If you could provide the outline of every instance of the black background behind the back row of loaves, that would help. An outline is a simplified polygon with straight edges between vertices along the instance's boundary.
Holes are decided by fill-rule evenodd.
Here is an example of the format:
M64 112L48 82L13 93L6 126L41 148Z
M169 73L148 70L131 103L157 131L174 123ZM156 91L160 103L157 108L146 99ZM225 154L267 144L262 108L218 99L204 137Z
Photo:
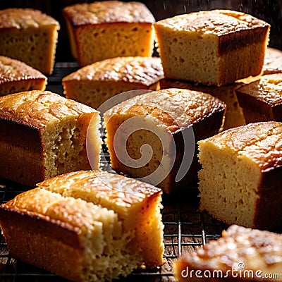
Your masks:
M124 0L126 1L126 0ZM214 8L228 8L250 13L252 16L271 24L269 47L282 50L282 0L137 0L147 5L156 20ZM0 9L4 8L37 8L56 18L61 24L59 42L56 49L56 61L73 61L68 44L66 25L62 17L63 7L92 1L82 0L0 0Z

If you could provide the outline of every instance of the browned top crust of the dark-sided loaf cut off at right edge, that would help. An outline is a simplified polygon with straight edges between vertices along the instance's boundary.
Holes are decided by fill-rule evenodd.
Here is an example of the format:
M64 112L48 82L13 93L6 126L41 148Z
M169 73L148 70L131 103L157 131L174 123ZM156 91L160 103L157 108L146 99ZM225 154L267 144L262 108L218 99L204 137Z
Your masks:
M270 106L282 104L282 73L262 75L259 80L243 85L238 90Z

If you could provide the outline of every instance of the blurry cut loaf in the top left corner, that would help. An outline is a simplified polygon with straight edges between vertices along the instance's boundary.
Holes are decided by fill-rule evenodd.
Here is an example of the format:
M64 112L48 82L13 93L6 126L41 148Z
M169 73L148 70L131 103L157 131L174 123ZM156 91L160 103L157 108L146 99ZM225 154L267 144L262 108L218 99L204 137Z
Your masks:
M0 55L27 63L46 75L53 72L59 23L31 8L0 11Z

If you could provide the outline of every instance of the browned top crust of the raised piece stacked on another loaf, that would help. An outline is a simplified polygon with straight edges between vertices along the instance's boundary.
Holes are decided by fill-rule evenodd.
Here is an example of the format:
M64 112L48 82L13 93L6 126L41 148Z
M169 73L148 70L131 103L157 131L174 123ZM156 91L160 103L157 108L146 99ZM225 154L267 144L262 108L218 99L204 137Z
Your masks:
M160 20L155 25L162 25L172 30L197 32L216 36L256 27L269 27L269 24L246 13L231 10L212 10L187 13L173 18Z

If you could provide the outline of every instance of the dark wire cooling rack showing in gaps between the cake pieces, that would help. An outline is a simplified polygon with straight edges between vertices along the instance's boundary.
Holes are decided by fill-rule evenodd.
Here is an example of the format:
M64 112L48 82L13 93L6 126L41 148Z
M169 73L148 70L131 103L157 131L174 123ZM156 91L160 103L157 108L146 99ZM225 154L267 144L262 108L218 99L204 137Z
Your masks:
M76 63L56 63L54 73L48 78L47 90L63 94L61 79L78 69ZM101 168L110 171L109 155L103 146L104 157ZM27 186L0 179L0 204L13 199L20 192L30 189ZM212 219L207 214L197 212L199 199L197 188L189 187L173 195L163 196L162 219L164 222L164 257L166 264L159 269L135 271L120 281L175 281L173 278L173 262L180 256L192 252L209 240L221 236L223 223ZM63 282L66 279L39 269L30 264L17 261L9 255L5 240L0 235L0 281L1 282Z

